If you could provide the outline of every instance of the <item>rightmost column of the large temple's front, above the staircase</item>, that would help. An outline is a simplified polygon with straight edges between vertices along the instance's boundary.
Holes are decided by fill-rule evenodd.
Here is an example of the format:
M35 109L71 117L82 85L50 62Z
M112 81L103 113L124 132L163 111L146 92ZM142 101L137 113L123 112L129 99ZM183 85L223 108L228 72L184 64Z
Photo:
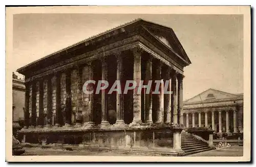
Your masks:
M178 81L178 124L183 124L183 78L182 74L177 76Z

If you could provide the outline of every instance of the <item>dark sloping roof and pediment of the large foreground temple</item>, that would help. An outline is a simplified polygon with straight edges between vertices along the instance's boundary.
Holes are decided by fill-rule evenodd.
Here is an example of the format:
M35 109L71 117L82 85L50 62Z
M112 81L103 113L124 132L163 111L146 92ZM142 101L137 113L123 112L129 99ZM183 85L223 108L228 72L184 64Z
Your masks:
M127 27L127 26L130 26L130 25L133 25L133 24L136 24L136 23L140 23L141 26L146 29L148 32L150 32L153 36L155 36L155 38L157 38L160 42L162 42L166 47L168 47L170 50L172 50L173 53L175 53L180 59L182 59L184 62L186 62L186 64L190 64L191 61L189 60L188 56L186 55L181 43L179 42L177 36L175 35L174 31L172 28L169 28L169 27L166 27L166 26L163 26L163 25L159 25L158 23L154 23L154 22L151 22L151 21L146 21L146 20L143 20L141 18L137 18L135 20L132 20L130 22L126 22L120 26L117 26L117 27L114 27L110 30L106 30L102 33L99 33L97 35L94 35L94 36L91 36L87 39L84 39L84 40L81 40L75 44L72 44L70 46L67 46L61 50L58 50L52 54L49 54L45 57L42 57L36 61L33 61L23 67L20 67L17 69L18 73L21 73L23 74L22 72L24 70L26 70L27 68L29 68L31 65L37 63L37 62L40 62L42 60L46 60L54 55L58 55L60 54L61 52L67 52L67 50L69 49L72 49L72 47L75 47L79 44L83 44L85 43L85 45L88 45L88 43L93 43L94 40L96 41L96 38L98 37L101 37L101 36L110 36L112 35L111 33L113 33L114 31L116 30L119 30L119 29L122 29L124 27ZM159 35L159 30L160 31L164 31L164 33L160 34ZM158 34L157 34L158 33ZM165 37L164 37L165 36ZM167 39L166 39L167 38ZM173 42L170 42L170 40L172 40ZM171 43L171 44L170 44ZM175 45L175 48L178 48L179 51L174 50L173 47ZM179 53L177 53L179 52Z

